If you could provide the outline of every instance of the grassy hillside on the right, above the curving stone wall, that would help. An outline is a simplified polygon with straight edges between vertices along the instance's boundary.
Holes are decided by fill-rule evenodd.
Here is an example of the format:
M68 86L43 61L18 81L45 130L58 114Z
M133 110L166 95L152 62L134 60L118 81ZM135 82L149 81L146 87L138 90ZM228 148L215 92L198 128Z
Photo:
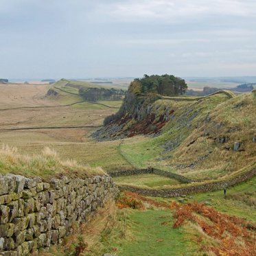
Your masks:
M155 104L166 106L166 101ZM256 144L252 141L256 133L253 94L231 100L225 95L214 95L200 102L169 104L175 112L160 136L130 138L122 143L121 152L136 167L161 167L205 181L229 175L256 161ZM210 121L206 121L208 115ZM196 117L193 119L193 116ZM220 143L218 139L222 137L228 141ZM242 151L233 151L235 141L242 143ZM176 148L165 150L168 143L174 143ZM194 163L208 152L211 154L198 161L194 168L176 167ZM160 157L166 159L159 161Z

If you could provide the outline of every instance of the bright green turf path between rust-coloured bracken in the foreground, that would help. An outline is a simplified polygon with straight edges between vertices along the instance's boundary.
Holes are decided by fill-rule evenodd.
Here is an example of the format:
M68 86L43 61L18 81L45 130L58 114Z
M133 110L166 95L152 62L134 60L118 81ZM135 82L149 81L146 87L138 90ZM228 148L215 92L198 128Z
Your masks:
M172 228L171 211L135 210L128 218L128 230L133 239L112 244L119 248L118 255L196 255L196 244L185 237L183 229Z

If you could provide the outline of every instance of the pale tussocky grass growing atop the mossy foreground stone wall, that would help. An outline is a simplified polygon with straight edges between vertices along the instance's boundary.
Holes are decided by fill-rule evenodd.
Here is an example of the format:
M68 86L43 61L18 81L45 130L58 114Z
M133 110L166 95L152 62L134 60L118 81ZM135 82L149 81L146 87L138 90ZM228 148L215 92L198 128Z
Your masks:
M43 148L40 154L28 156L21 154L17 148L2 146L0 149L0 174L21 174L24 176L51 176L67 175L93 176L103 175L101 167L92 168L89 165L82 165L72 159L60 159L57 152L49 147Z

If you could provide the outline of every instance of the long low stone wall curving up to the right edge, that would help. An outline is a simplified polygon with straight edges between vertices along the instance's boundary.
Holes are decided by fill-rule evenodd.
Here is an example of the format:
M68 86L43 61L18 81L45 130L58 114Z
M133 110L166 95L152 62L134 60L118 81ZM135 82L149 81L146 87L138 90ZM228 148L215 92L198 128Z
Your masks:
M234 178L230 178L229 180L226 181L216 181L213 183L205 183L202 185L193 185L193 183L191 183L190 185L187 185L187 187L178 187L174 189L143 189L139 187L120 185L119 189L120 191L128 190L136 192L144 196L156 196L167 198L173 196L183 196L207 191L220 190L223 189L224 187L231 187L244 181L248 181L248 179L253 178L253 176L255 175L256 169L252 169L246 173L240 174L239 176L235 176Z

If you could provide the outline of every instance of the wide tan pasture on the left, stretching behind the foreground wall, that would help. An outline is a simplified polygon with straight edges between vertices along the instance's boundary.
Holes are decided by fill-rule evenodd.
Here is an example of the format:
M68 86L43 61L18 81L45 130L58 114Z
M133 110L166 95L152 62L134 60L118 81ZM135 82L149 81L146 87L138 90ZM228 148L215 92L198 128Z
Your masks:
M15 146L24 154L37 154L49 146L62 158L80 163L106 170L130 168L119 154L119 141L97 143L89 137L117 108L82 102L79 95L62 92L56 97L46 96L48 89L48 84L0 84L1 144ZM121 104L99 103L110 107Z

